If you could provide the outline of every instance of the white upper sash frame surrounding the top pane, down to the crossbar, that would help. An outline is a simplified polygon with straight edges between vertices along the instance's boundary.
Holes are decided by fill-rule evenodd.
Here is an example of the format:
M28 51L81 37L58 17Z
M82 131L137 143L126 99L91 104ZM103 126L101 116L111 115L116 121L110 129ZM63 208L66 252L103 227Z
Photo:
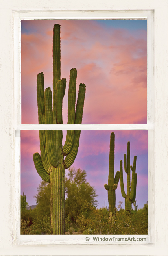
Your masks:
M153 35L153 12L152 11L94 11L90 13L89 11L80 13L81 16L79 16L78 11L67 11L66 13L61 11L55 11L53 13L14 13L14 26L15 26L15 41L14 41L14 48L15 48L15 63L14 63L14 75L15 75L15 130L44 130L39 126L39 128L36 128L36 125L34 124L21 124L21 20L27 19L27 20L35 20L35 19L55 19L57 17L58 20L60 19L88 19L88 20L96 20L96 19L140 19L140 20L147 20L147 127L144 124L144 127L142 124L128 124L129 130L148 130L153 129L154 124L154 90L153 90L153 84L154 84L154 74L153 74L153 68L154 68L154 61L153 61L153 45L154 45L154 35ZM19 70L18 70L19 67ZM48 124L46 128L49 126ZM66 124L63 124L61 127L54 127L51 125L50 129L54 130L76 130L75 126L71 124L70 128L67 125L67 128L64 128ZM109 124L101 124L104 126L109 126ZM78 130L90 130L90 129L100 129L102 130L102 126L98 124L88 124L88 126L81 126L78 128ZM117 125L117 124L115 124ZM116 126L117 130L126 130L125 124L118 124L119 126ZM95 127L94 127L95 126ZM112 129L112 124L110 124ZM109 130L111 130L109 126ZM48 129L48 128L47 128ZM106 130L106 128L105 128Z

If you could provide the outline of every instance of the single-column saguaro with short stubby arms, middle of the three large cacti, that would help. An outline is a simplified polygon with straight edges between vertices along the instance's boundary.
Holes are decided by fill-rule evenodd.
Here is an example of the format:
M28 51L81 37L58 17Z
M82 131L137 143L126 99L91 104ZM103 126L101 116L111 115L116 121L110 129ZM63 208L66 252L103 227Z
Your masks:
M105 184L104 187L108 191L108 201L109 201L109 218L111 226L114 224L115 212L116 212L116 189L117 184L120 180L120 172L117 171L114 178L114 149L115 149L115 134L111 133L110 136L110 154L109 154L109 178L108 185Z

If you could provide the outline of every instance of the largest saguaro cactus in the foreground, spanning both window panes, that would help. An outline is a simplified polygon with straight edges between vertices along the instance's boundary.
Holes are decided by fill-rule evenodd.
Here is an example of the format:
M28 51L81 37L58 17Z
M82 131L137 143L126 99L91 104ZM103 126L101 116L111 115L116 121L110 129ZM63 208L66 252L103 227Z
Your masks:
M62 124L62 102L66 79L61 79L60 25L53 29L53 103L50 87L44 91L43 72L37 75L37 105L39 124ZM68 124L81 124L85 99L85 84L79 85L76 102L77 70L70 70L68 90ZM35 168L43 180L51 183L52 234L65 234L65 169L74 162L81 131L68 130L62 145L62 130L40 130L41 154L33 154ZM65 157L66 156L66 157ZM65 157L65 158L64 158Z

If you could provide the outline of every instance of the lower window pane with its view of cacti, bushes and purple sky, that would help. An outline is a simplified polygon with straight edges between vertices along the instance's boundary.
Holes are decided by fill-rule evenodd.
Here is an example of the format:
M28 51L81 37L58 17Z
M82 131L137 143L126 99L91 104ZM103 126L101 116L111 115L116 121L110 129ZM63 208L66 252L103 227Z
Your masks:
M75 142L59 158L54 143L40 152L39 131L21 131L21 234L148 234L148 131L81 131Z

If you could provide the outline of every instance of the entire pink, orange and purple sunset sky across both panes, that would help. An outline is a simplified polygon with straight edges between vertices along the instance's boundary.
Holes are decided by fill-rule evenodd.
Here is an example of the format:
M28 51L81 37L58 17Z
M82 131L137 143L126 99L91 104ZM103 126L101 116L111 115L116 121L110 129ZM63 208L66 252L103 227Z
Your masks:
M61 78L66 78L63 123L67 123L68 82L76 67L77 92L86 85L83 124L147 122L146 20L22 20L22 124L38 124L36 78L44 72L44 87L52 89L52 30L61 25ZM98 194L98 207L107 204L109 143L112 131L82 131L75 168L85 169ZM137 155L137 204L148 200L148 132L114 131L115 172L131 143L131 164ZM66 132L63 132L64 139ZM21 194L29 205L41 180L33 164L39 152L39 132L21 132ZM124 172L125 173L125 172ZM126 176L124 176L126 182ZM120 184L120 182L119 182ZM125 184L126 189L126 184ZM123 201L120 185L116 204ZM108 205L108 204L107 204Z

